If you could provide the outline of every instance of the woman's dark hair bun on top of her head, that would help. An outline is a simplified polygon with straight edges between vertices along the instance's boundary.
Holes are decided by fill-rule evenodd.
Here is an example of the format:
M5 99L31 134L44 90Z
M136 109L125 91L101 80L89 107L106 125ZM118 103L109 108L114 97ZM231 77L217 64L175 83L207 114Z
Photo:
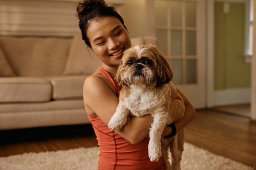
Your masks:
M102 8L107 6L108 5L105 3L104 0L81 0L77 5L76 11L77 11L79 20L81 20L81 18L84 15L89 14L91 11L97 8Z

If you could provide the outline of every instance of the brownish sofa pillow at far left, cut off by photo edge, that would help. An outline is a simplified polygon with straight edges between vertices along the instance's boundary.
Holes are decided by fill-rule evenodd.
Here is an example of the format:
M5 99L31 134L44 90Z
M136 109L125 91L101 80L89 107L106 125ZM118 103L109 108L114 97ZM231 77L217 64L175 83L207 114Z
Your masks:
M12 70L12 67L9 64L9 62L6 60L5 54L3 53L0 44L0 77L5 76L15 76L15 73Z

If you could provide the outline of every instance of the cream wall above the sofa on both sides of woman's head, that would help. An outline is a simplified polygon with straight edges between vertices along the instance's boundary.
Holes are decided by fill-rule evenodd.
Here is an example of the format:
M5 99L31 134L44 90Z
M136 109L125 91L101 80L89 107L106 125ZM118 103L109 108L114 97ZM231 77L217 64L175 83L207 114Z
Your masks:
M146 35L146 0L105 1L114 6L124 18L131 37ZM77 2L78 0L0 0L0 35L79 34Z

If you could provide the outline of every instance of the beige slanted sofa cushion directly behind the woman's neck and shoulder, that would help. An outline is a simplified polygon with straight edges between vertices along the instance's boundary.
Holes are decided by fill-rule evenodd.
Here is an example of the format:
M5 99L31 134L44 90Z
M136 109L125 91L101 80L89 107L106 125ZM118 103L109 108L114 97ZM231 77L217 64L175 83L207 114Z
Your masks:
M75 35L71 43L63 75L92 74L100 65L102 65L102 62L96 57L93 51L87 47L81 35Z

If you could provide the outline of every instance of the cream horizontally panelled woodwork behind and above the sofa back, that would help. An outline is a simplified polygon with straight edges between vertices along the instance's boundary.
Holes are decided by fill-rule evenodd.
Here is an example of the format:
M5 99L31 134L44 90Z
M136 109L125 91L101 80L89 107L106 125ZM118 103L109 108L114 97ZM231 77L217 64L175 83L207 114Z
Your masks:
M119 11L126 0L105 0ZM73 36L80 34L78 0L0 0L0 35Z

